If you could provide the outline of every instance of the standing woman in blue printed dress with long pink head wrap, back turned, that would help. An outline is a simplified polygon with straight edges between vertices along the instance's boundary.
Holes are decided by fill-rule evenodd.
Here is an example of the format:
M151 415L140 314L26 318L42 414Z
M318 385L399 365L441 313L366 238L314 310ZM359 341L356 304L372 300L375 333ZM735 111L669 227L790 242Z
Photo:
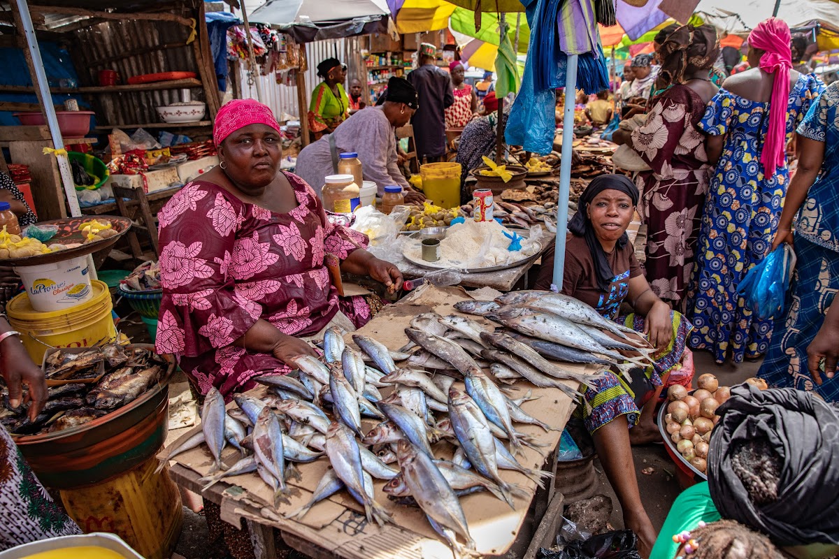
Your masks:
M759 23L748 44L752 70L725 80L699 124L716 170L686 308L690 347L710 350L717 363L769 349L772 322L753 319L737 285L769 254L789 183L786 135L824 89L816 76L791 70L789 27L780 19Z

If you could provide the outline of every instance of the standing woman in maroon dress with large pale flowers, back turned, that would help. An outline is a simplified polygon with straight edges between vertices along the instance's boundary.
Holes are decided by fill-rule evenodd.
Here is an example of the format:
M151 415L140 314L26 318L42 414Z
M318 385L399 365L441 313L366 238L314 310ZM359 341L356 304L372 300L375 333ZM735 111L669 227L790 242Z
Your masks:
M717 93L708 78L717 54L717 31L710 25L671 30L659 49L658 94L646 121L633 132L619 129L612 135L649 166L635 176L648 231L644 268L655 294L677 308L693 269L711 174L696 127Z

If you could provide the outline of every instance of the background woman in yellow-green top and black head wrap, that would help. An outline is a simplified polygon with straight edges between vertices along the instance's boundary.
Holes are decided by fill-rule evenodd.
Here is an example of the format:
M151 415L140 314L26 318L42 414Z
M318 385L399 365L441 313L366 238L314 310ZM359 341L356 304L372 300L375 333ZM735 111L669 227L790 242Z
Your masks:
M309 106L309 129L315 140L335 132L336 127L350 116L350 99L342 85L347 80L347 65L328 58L317 65L317 75L323 81L312 91Z

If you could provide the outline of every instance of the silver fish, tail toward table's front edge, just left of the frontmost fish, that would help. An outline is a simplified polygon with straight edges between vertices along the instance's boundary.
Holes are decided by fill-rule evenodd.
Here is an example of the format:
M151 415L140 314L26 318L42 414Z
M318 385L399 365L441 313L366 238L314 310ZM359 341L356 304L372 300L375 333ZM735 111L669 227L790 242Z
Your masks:
M356 437L350 429L341 423L332 422L326 433L326 456L332 464L338 478L344 482L347 489L352 489L353 497L364 505L367 521L376 520L378 525L393 521L381 505L367 494L364 487L364 470L362 468L361 451L358 449Z

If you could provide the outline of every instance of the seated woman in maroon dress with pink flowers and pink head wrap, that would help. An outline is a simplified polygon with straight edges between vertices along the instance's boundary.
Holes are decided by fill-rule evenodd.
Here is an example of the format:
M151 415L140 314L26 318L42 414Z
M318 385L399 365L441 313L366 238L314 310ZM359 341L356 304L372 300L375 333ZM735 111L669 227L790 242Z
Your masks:
M280 172L279 126L268 106L228 102L213 141L221 163L159 213L157 350L174 354L201 394L216 386L229 401L255 386L254 376L285 374L289 359L315 355L300 338L371 318L364 298L338 298L326 254L342 272L391 292L402 274L364 250L367 236L331 225L300 177Z

